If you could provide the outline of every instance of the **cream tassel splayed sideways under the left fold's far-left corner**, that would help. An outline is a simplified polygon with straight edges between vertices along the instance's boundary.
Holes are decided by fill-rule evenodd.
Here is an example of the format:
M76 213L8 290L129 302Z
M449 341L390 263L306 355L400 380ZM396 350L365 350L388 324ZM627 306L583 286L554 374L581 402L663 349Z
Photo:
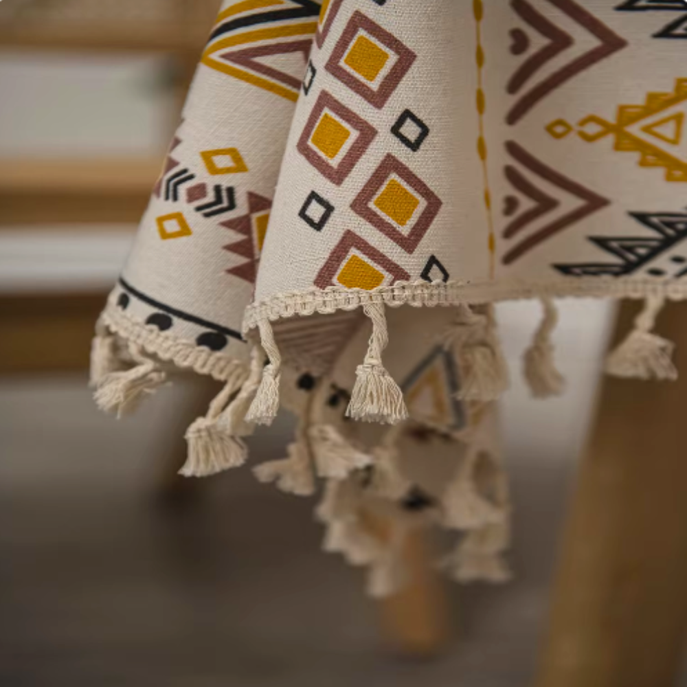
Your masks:
M167 381L159 363L145 357L141 348L132 347L131 356L138 363L135 368L106 374L94 394L95 403L101 410L116 412L119 418L133 412L143 398Z

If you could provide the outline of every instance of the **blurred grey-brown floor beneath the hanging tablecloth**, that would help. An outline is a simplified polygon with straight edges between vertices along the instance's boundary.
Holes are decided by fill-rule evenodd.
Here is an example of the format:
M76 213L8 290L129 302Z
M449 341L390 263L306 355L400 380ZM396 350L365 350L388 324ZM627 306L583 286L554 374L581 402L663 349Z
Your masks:
M528 401L514 375L505 404L517 579L451 588L460 635L432 662L383 646L360 573L319 552L310 500L247 470L194 483L195 500L157 497L188 387L117 423L85 374L1 380L0 686L531 687L592 379L580 313L566 317L567 396ZM261 432L254 460L280 457L288 434Z

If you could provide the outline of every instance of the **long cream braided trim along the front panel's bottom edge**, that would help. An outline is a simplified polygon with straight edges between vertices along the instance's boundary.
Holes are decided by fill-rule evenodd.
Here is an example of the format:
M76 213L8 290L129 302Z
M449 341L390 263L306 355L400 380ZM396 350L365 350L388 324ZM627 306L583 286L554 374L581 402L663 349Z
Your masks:
M687 282L657 282L654 280L618 280L606 278L579 278L552 280L539 283L510 282L444 282L429 284L397 282L392 286L379 286L372 291L329 286L327 289L308 289L275 295L246 308L243 333L246 335L258 323L268 319L293 315L328 315L337 310L354 310L368 303L383 303L392 308L410 305L453 306L460 303L482 304L498 301L521 300L539 297L613 297L644 298L660 295L671 300L687 299Z

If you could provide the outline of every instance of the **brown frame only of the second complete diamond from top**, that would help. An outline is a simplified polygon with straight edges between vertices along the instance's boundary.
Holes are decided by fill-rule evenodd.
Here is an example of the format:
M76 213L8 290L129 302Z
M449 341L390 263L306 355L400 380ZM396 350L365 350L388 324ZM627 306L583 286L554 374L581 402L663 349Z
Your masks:
M315 131L317 122L319 122L322 113L324 113L326 109L341 117L341 120L346 122L346 124L350 124L354 131L358 133L358 137L354 144L352 144L350 150L348 150L348 153L344 155L338 165L330 164L310 145L313 131ZM346 181L348 174L350 174L353 168L358 164L359 159L365 155L376 135L377 130L372 124L365 122L362 117L359 117L354 111L348 109L346 105L339 102L328 91L322 91L322 93L319 94L319 98L317 98L317 102L313 107L313 111L308 118L308 122L305 125L296 148L323 177L329 179L329 181L335 183L337 186L340 186Z

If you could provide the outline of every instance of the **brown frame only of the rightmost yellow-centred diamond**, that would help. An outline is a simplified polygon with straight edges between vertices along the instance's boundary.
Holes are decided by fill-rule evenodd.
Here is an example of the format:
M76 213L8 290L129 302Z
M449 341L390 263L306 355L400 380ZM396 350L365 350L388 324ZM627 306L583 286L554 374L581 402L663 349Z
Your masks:
M408 234L400 232L392 223L387 222L370 207L374 196L379 193L392 174L396 174L405 181L427 203L427 207L420 214ZM375 229L379 229L387 238L401 246L406 253L412 255L427 234L427 230L431 227L431 223L441 210L442 205L439 196L422 179L407 168L401 160L390 154L381 161L379 167L372 173L370 181L363 186L363 190L357 195L350 207L355 214L368 221Z

